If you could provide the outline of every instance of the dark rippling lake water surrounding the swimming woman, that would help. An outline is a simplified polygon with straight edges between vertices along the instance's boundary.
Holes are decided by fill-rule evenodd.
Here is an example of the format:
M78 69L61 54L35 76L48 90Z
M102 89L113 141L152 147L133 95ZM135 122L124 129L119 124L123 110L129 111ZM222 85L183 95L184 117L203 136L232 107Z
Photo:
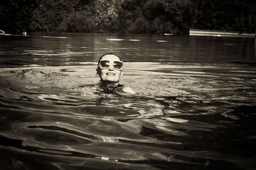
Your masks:
M3 169L255 169L252 38L0 36ZM124 60L106 94L100 55Z

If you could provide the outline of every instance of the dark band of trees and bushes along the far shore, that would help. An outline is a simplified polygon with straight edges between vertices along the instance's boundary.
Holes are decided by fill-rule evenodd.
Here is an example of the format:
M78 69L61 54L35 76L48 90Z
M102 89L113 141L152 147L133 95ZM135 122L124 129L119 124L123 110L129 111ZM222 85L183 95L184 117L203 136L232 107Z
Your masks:
M255 0L1 0L5 32L255 32Z

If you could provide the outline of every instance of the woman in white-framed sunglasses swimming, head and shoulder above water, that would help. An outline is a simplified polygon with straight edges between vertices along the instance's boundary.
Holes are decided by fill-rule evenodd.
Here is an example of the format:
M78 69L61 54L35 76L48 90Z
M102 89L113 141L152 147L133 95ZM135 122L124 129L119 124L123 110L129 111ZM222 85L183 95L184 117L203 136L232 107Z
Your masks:
M118 93L136 94L131 87L119 84L119 80L123 75L123 62L118 55L113 53L102 55L96 70L105 91L110 89L108 91L118 90Z

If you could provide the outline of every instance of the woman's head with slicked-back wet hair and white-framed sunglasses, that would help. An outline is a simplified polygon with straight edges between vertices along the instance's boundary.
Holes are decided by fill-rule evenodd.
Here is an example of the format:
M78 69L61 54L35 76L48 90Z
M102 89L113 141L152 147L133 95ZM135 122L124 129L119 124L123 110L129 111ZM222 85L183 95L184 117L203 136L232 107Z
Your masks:
M102 83L118 84L122 77L123 63L118 55L107 53L102 55L97 66L97 76L100 77Z

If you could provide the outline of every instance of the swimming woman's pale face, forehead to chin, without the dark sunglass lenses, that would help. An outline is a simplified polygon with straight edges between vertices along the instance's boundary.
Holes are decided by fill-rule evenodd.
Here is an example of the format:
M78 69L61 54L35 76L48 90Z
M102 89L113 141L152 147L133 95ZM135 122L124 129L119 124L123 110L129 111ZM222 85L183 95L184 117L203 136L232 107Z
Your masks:
M97 75L100 76L100 80L103 83L111 83L111 84L117 85L119 79L122 77L122 74L123 74L122 70L115 69L116 66L114 67L114 65L116 64L115 61L120 61L119 57L113 54L108 54L108 55L104 55L100 60L104 60L104 62L106 62L106 60L109 60L108 68L106 69L105 68L102 69L101 67L97 68Z

